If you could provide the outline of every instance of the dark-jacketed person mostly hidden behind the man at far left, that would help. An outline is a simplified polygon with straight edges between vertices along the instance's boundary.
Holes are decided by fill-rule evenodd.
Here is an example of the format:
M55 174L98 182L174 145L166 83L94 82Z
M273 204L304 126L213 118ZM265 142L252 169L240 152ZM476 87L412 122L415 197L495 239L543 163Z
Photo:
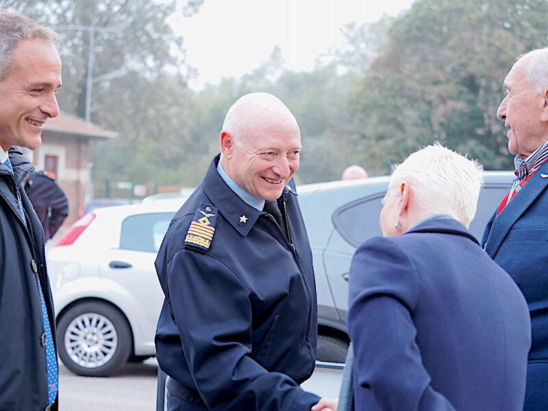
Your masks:
M25 191L44 227L44 240L47 241L55 236L69 215L69 201L55 182L55 175L49 171L32 173L25 182Z

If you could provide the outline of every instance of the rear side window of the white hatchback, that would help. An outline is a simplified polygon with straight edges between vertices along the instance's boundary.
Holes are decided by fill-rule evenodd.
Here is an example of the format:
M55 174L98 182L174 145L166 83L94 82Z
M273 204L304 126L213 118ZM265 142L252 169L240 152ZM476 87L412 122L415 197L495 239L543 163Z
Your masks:
M122 221L120 248L157 253L173 212L136 214Z

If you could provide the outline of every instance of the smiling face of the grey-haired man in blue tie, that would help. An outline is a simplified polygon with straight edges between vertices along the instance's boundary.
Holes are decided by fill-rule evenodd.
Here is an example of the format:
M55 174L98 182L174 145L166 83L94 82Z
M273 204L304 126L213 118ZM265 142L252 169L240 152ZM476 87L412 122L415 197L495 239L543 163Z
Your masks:
M0 146L36 149L47 119L58 116L55 90L61 86L61 60L51 43L23 40L12 53L14 69L0 82Z

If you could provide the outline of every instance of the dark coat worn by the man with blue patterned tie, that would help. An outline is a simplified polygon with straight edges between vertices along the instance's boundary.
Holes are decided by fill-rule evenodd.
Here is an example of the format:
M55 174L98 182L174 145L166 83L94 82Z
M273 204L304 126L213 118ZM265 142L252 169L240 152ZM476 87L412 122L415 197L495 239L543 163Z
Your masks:
M9 155L14 174L0 164L0 411L44 410L48 403L46 350L41 344L44 321L35 268L55 342L53 300L42 225L23 189L23 179L34 166L15 149ZM26 227L14 190L21 194ZM51 409L58 409L57 401Z

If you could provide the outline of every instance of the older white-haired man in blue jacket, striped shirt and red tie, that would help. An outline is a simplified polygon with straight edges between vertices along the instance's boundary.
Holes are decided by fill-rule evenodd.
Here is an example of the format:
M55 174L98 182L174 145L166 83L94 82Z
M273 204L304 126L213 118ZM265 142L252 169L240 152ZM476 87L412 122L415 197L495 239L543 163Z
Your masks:
M508 128L516 179L482 244L527 300L532 347L525 410L548 410L548 48L523 55L504 79L497 118Z

